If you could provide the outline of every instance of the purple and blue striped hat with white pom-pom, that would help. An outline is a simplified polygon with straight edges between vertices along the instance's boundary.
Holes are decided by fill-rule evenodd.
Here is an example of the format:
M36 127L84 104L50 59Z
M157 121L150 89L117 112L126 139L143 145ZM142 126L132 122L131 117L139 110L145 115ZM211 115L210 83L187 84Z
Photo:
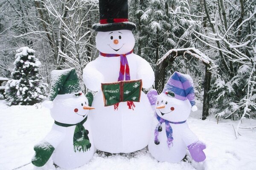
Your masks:
M196 111L197 107L195 106L195 92L193 85L193 80L189 75L175 71L169 78L162 93L173 96L179 100L189 99L192 111Z

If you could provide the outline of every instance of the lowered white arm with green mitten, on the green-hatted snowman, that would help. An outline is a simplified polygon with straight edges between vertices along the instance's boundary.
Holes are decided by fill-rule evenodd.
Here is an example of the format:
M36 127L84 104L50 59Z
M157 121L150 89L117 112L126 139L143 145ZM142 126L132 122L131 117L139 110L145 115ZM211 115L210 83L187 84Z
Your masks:
M41 142L34 146L35 155L32 158L32 164L36 167L44 166L63 138L64 133L52 129Z

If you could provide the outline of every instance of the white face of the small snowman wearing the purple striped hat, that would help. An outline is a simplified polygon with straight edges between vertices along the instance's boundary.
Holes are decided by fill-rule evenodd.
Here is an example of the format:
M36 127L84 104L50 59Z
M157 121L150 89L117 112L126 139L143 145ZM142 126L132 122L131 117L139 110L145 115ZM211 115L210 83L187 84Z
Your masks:
M166 94L157 97L156 113L171 122L182 122L189 117L191 105L188 99L182 101Z

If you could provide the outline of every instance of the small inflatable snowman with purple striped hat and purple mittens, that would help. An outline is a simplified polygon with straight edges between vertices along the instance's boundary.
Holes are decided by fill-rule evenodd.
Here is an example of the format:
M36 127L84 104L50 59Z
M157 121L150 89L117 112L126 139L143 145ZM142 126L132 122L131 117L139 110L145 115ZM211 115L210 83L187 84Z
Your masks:
M197 111L192 78L175 72L159 96L156 90L147 95L151 105L155 105L154 131L148 144L151 155L158 161L177 163L188 149L194 161L204 161L206 146L186 122L190 111Z

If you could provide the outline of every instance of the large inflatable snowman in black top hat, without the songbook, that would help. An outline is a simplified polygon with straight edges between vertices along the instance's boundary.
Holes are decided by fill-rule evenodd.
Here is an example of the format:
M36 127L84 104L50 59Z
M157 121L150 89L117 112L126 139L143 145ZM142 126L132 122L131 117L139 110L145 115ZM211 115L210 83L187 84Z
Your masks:
M127 0L99 0L99 11L100 23L93 29L98 31L100 54L83 74L86 87L98 91L92 104L97 109L90 114L93 141L98 150L131 153L148 145L154 111L143 91L140 102L120 102L118 108L104 106L102 83L142 79L142 87L150 88L154 72L145 59L133 53L132 30L136 26L128 22Z

